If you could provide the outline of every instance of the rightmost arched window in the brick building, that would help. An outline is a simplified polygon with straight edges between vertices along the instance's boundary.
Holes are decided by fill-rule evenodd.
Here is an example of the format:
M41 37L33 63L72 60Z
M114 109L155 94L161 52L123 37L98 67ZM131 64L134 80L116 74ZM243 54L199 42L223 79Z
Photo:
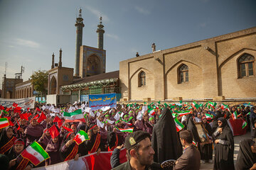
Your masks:
M253 76L254 62L255 57L246 53L238 59L240 78Z

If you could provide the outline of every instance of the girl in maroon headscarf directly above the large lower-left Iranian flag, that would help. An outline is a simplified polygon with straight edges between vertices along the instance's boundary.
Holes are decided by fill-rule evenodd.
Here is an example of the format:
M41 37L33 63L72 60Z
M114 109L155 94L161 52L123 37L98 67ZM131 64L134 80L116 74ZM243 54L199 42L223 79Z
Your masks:
M31 145L34 140L39 140L43 134L43 127L38 125L36 119L32 119L31 123L25 130L26 134L26 146Z

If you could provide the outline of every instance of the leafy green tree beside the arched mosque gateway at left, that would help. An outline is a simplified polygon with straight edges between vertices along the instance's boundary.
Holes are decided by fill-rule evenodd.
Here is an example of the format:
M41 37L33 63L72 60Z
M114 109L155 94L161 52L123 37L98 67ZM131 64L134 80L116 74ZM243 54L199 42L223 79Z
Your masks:
M38 70L31 76L34 89L41 94L46 94L46 87L48 84L48 72L46 70Z

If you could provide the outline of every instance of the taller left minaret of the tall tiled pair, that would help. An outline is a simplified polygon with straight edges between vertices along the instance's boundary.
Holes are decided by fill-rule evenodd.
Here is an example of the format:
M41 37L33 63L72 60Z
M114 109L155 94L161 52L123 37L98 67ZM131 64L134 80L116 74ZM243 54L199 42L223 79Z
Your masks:
M79 64L80 64L80 47L82 45L82 28L85 26L82 23L82 9L79 9L79 16L75 21L76 26L76 42L75 42L75 76L79 76Z

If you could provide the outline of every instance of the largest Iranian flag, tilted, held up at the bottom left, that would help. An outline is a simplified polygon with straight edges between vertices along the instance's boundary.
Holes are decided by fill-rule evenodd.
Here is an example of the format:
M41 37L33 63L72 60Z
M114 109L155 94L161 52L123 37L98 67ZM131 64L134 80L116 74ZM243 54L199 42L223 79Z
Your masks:
M35 166L49 158L48 153L36 141L24 149L21 156L28 159Z

